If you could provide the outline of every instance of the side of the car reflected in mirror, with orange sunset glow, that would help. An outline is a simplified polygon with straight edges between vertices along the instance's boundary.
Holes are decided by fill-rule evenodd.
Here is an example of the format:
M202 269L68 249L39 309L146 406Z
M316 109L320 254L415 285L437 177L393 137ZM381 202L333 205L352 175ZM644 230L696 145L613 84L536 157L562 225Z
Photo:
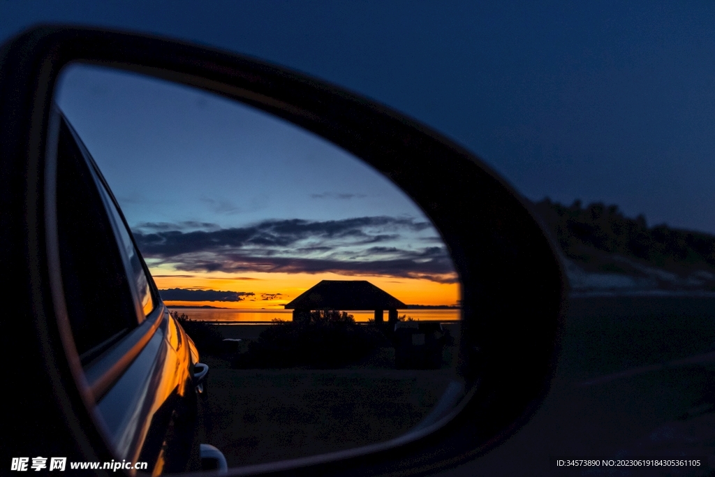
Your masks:
M66 321L97 425L118 458L152 473L199 470L197 348L162 303L82 140L61 112L54 120Z

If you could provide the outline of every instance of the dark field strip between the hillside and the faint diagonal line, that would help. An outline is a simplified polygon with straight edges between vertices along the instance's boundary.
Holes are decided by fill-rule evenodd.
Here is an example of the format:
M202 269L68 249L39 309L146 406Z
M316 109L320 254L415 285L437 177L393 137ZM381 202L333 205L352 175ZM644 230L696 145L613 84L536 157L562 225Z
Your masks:
M561 372L577 379L715 350L715 298L571 300Z

